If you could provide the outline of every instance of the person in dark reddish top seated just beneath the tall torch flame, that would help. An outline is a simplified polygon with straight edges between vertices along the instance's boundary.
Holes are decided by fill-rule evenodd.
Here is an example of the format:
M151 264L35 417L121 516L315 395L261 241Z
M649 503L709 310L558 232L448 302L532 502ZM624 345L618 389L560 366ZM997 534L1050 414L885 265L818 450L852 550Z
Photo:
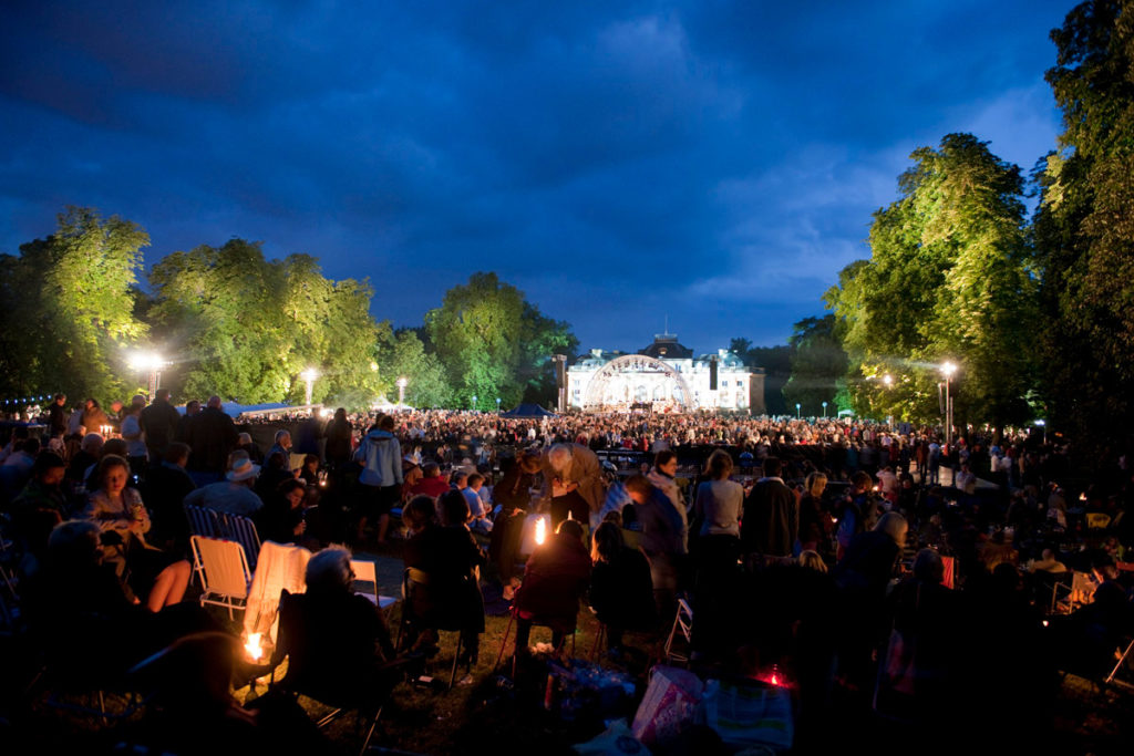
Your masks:
M591 560L583 545L583 526L564 520L555 535L527 560L524 583L516 592L516 648L527 649L532 625L551 628L551 644L558 649L568 632L575 631L578 600L591 580Z

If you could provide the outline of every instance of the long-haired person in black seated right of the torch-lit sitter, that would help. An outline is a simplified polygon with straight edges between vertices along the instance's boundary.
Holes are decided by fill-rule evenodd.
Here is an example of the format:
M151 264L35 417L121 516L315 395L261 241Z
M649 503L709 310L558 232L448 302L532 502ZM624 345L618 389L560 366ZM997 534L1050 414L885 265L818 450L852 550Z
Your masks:
M607 626L607 648L618 652L625 630L646 630L658 622L650 562L641 551L626 547L621 528L612 521L594 530L591 560L591 606Z

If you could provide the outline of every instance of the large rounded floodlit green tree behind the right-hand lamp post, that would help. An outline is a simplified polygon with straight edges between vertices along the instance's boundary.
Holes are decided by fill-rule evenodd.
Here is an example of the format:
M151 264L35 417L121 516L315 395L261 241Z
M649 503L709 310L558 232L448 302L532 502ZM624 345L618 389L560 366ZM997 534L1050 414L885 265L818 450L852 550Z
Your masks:
M971 134L911 159L900 197L874 213L871 258L826 295L849 355L849 397L861 414L932 418L937 366L951 360L963 371L958 419L1024 421L1036 282L1021 171Z

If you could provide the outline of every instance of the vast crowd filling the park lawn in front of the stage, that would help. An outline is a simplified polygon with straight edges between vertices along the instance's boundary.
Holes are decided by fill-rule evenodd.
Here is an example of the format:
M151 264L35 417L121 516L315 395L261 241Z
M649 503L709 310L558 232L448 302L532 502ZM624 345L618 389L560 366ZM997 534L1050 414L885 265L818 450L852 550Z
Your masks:
M429 655L438 629L460 630L468 666L486 591L510 602L521 655L533 625L560 645L582 601L615 661L684 600L694 663L780 670L804 738L836 691L921 722L962 699L1040 711L1050 672L1097 677L1132 630L1125 459L1076 478L1067 450L1035 435L967 428L947 444L931 427L835 419L339 409L276 428L262 453L264 422L242 432L217 397L179 411L159 391L110 414L56 397L43 439L17 427L0 504L27 621L51 638L105 615L91 634L108 645L124 627L146 638L108 674L215 630L183 602L192 504L249 516L265 541L400 551L416 576L404 649ZM534 545L540 519L551 533ZM1094 600L1049 617L1073 571L1093 575ZM389 662L384 626L366 627L384 640L361 645ZM1016 694L1007 704L971 685L992 669Z

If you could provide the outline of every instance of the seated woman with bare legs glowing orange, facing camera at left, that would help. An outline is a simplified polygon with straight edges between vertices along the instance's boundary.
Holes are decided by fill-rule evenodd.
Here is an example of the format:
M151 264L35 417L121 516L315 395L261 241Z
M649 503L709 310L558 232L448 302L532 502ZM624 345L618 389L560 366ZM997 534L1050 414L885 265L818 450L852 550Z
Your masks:
M150 513L138 492L126 486L129 475L126 459L116 455L104 457L99 462L100 487L91 494L84 517L104 534L113 534L112 540L103 538L107 542L104 553L119 560L120 579L126 577L125 568L129 569L130 588L146 595L146 606L156 612L181 601L189 584L191 567L186 560L170 557L146 543Z

